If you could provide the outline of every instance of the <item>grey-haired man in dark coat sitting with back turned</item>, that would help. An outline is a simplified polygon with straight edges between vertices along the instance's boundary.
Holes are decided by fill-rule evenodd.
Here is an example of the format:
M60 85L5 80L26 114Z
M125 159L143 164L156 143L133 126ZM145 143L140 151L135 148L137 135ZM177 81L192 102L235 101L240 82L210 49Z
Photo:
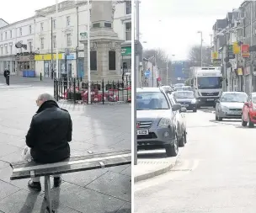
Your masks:
M72 120L66 109L61 109L51 94L40 94L36 100L39 107L33 116L28 134L24 160L41 163L60 162L70 157ZM61 177L54 176L54 186L61 184ZM29 188L41 190L40 178L29 180Z

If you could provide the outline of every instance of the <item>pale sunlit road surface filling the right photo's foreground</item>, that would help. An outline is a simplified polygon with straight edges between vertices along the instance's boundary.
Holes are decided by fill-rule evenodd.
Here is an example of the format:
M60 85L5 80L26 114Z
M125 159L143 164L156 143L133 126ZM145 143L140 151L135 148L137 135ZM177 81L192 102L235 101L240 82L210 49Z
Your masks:
M256 127L187 113L188 144L173 171L135 185L136 213L255 213Z

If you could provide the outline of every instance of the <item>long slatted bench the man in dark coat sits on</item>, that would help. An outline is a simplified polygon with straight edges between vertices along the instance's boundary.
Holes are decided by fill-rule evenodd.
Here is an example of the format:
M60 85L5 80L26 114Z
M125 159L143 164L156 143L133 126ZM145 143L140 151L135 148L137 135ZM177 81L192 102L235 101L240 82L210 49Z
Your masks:
M55 163L38 163L38 162L12 162L13 168L11 180L22 178L45 177L45 200L47 210L55 212L52 207L51 200L51 182L50 176L61 173L75 173L98 168L110 168L131 164L131 150L123 150L116 152L93 153L88 152L89 155L83 157L70 157L62 162Z

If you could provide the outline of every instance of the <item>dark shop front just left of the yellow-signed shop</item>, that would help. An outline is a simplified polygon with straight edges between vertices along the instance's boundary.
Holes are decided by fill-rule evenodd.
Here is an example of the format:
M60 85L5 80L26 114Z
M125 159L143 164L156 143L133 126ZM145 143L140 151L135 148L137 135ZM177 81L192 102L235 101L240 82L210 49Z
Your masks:
M31 53L24 52L24 53L17 54L15 60L16 60L16 65L14 62L14 67L16 66L18 76L23 76L24 72L26 71L35 72L35 54L34 53L31 54ZM4 63L4 62L5 61L3 61L3 67L11 66L10 64Z

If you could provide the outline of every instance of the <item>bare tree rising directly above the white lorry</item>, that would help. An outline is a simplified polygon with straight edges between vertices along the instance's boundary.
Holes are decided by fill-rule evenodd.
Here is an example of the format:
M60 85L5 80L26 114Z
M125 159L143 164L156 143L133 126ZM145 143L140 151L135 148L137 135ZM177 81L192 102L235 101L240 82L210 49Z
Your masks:
M194 45L189 51L189 61L193 64L192 67L201 66L201 47ZM203 46L203 66L210 66L211 64L211 47Z

